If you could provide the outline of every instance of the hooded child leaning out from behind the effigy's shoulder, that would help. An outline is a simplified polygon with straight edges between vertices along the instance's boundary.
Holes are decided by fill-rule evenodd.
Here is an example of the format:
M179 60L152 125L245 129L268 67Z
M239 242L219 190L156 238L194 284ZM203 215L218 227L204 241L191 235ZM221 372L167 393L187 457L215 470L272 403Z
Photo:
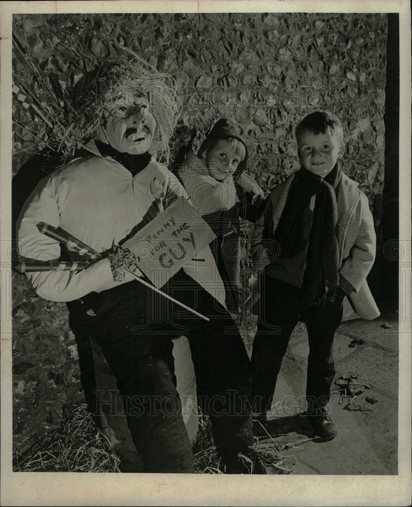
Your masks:
M210 247L226 288L226 307L241 303L240 218L255 222L265 209L264 192L246 172L248 151L233 120L218 120L198 155L191 151L178 170L184 188L216 234Z

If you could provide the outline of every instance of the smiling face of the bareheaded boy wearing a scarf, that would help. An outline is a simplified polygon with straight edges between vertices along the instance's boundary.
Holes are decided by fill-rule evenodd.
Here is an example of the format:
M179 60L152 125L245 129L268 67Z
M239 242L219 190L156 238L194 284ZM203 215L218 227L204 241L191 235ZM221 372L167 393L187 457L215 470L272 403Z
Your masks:
M328 129L325 134L314 134L309 130L301 132L297 138L297 152L302 165L322 178L342 158L345 143L340 142L336 134Z

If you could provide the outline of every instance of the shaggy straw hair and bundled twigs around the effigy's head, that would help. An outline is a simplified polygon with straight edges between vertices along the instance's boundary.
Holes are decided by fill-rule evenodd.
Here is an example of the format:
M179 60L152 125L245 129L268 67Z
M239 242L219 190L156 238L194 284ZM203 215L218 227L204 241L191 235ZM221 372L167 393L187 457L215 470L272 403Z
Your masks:
M22 26L24 34L23 20ZM65 163L72 156L77 156L76 150L81 149L93 132L104 125L110 113L110 102L124 92L138 92L147 98L149 112L156 121L149 152L167 165L169 143L173 140L181 112L175 80L169 74L159 73L131 49L108 37L104 42L110 46L110 53L115 54L103 62L88 49L87 38L75 41L73 37L68 37L65 43L59 43L58 53L68 62L72 77L76 70L76 81L69 82L69 70L53 70L45 68L44 64L36 64L25 36L19 40L16 30L13 35L16 61L23 63L23 68L16 67L19 70L13 71L16 98L21 102L24 95L24 107L31 107L42 121L34 122L30 129L24 122L18 123L16 118L15 124L30 132L38 141L38 146L47 146L57 152L61 163ZM52 77L55 77L54 88L50 81ZM27 116L27 113L24 115Z

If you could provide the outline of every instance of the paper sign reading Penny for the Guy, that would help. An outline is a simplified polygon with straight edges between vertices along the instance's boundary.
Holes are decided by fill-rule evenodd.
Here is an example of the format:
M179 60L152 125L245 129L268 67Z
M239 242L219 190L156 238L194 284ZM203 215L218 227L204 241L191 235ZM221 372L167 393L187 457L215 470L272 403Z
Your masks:
M122 247L134 253L139 269L160 288L215 237L195 208L180 197Z

